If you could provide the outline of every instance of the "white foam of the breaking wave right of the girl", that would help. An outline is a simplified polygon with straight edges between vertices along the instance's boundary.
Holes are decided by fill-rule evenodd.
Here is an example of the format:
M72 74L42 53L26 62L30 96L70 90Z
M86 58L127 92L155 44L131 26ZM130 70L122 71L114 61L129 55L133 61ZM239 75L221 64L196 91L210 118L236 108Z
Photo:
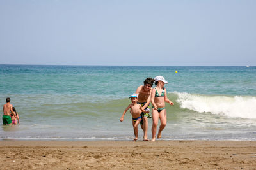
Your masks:
M237 118L256 118L256 97L210 96L175 92L180 108Z

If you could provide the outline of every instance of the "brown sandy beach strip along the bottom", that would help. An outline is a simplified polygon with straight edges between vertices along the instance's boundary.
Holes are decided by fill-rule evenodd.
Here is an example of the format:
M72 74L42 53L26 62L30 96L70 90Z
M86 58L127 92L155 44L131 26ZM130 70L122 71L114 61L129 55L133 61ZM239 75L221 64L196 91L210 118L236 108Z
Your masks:
M256 169L256 141L0 141L0 169Z

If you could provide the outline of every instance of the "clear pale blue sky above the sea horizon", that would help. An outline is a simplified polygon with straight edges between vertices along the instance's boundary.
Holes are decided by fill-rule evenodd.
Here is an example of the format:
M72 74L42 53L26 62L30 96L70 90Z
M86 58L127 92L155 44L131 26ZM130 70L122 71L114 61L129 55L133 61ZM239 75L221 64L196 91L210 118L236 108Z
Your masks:
M0 0L0 64L256 66L256 1Z

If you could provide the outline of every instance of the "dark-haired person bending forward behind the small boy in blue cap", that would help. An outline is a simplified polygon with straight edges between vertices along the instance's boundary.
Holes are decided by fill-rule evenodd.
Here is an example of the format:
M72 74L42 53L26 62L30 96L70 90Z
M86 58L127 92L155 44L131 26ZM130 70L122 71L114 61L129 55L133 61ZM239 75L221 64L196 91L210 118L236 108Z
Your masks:
M136 94L138 94L138 104L141 104L142 109L145 110L141 113L141 128L143 129L143 140L148 141L148 118L151 118L150 112L150 94L152 91L152 85L154 83L153 78L146 78L144 85L140 85Z

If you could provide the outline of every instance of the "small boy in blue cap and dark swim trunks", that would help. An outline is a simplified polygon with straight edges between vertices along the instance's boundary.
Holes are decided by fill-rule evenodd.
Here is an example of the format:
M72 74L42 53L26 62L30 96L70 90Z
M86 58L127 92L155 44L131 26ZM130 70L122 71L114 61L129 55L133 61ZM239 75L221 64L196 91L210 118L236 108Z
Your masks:
M133 130L134 130L134 136L135 138L133 139L133 141L137 141L138 140L138 125L140 124L140 120L141 120L141 111L144 111L140 104L137 103L138 101L138 95L137 94L132 94L130 96L131 99L131 104L129 104L129 106L124 110L124 113L122 115L122 117L120 118L120 121L123 122L124 121L124 115L125 113L131 109L131 114L132 114L132 126L133 126Z

